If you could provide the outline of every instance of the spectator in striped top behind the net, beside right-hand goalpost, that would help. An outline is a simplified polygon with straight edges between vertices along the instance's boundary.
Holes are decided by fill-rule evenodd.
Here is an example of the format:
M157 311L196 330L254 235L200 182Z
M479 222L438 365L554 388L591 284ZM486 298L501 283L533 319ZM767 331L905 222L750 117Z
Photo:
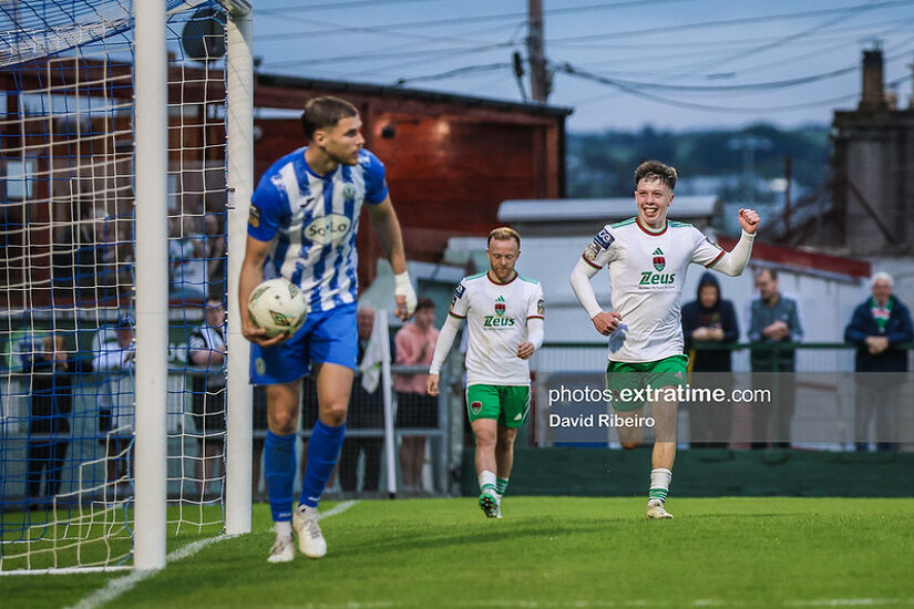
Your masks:
M215 479L216 464L225 446L225 308L222 298L209 298L204 308L204 321L191 334L191 363L205 367L207 373L193 376L192 410L197 427L199 458L195 477L199 484L199 499L206 496L207 484Z

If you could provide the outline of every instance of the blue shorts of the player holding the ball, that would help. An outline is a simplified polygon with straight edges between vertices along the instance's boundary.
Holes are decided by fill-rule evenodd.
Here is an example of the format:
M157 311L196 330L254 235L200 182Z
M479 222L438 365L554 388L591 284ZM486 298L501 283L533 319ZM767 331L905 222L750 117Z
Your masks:
M359 332L356 303L310 313L292 338L276 347L250 344L250 382L288 383L302 378L312 363L336 363L356 370Z

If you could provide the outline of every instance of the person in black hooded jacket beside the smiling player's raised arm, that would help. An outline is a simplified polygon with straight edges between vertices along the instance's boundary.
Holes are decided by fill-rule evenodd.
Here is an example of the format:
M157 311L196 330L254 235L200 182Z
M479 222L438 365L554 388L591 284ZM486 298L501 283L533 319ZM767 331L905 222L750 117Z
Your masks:
M685 351L689 355L691 386L732 390L729 349L696 349L697 343L733 343L739 340L739 323L733 303L720 297L720 285L711 272L698 281L696 300L682 307ZM706 374L713 373L713 374ZM692 448L726 446L732 414L726 403L689 404L689 438Z

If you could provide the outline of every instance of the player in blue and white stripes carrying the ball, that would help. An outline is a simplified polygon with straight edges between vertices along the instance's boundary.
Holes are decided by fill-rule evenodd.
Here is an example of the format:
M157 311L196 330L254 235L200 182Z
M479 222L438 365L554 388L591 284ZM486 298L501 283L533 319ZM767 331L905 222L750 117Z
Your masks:
M264 469L276 528L270 562L295 558L292 529L306 556L327 553L317 504L342 445L356 369L356 230L363 202L393 268L397 316L405 320L415 308L384 166L363 149L358 111L347 101L318 97L305 106L301 125L310 145L274 163L251 197L238 287L239 304L246 310L251 290L265 277L283 276L309 295L311 307L292 337L268 339L242 316L244 334L253 343L251 383L268 385ZM292 512L299 392L311 364L319 417L308 442L299 505Z

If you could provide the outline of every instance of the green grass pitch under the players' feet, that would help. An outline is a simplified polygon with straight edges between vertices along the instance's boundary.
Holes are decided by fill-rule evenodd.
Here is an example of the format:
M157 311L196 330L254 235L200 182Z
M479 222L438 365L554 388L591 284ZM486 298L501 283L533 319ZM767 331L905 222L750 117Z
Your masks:
M672 499L665 522L646 520L644 504L509 496L505 518L490 520L472 498L361 502L321 522L326 558L286 565L265 561L273 533L256 506L254 534L109 606L914 605L914 499ZM69 606L110 577L0 578L0 598Z

